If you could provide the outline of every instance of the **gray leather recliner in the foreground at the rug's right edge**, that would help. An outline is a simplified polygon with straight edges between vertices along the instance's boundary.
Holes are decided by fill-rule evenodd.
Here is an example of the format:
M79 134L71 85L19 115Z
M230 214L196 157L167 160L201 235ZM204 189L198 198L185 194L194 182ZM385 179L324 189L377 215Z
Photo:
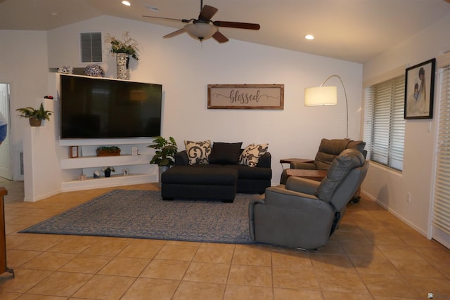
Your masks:
M302 249L323 247L367 169L364 155L347 149L333 159L321 182L291 176L286 185L266 188L264 200L250 203L252 240Z

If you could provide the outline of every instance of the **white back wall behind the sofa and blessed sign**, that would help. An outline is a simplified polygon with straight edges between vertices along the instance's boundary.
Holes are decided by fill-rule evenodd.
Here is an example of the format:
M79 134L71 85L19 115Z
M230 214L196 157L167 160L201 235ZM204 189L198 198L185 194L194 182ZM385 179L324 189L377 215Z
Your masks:
M79 32L102 32L120 37L129 31L141 44L139 64L131 60L131 80L162 84L162 135L184 140L269 143L274 171L279 159L314 157L321 138L345 137L345 98L339 81L340 103L333 107L304 107L304 88L319 86L330 74L342 77L349 97L349 137L359 138L362 65L280 48L230 40L195 41L187 34L162 36L173 28L120 18L100 17L49 31L49 67L79 63ZM226 34L226 31L222 31ZM101 64L106 77L115 77L115 60L103 44ZM284 110L208 110L207 84L284 84Z

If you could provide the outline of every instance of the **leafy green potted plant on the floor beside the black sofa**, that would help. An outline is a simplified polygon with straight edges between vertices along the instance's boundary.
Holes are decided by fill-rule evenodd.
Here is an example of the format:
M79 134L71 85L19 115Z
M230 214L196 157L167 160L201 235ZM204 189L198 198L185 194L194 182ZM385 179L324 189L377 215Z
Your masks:
M147 148L155 149L155 155L150 160L150 164L158 164L159 178L161 182L161 174L167 171L175 164L175 155L178 152L178 146L174 138L169 137L166 140L162 136L157 136L153 140L152 145L148 145Z

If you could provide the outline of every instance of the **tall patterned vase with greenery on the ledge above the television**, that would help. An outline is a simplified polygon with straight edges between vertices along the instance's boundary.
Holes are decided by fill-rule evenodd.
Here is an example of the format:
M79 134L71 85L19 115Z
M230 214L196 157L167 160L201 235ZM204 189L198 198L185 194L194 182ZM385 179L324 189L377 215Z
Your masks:
M139 60L139 43L131 39L129 32L122 34L122 40L106 34L105 42L111 44L110 52L116 55L117 79L129 79L129 57Z

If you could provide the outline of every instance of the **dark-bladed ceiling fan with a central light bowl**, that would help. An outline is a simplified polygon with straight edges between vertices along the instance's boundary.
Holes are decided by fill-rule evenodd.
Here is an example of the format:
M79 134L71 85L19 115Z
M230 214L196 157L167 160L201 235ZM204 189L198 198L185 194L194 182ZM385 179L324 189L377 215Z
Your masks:
M259 24L255 23L243 23L243 22L228 22L228 21L212 21L212 16L217 13L218 9L209 5L203 6L203 0L200 0L200 15L198 15L198 19L174 19L174 18L163 18L163 17L154 17L152 15L143 15L146 18L156 18L163 20L174 20L181 21L184 23L189 23L184 25L180 30L176 30L172 33L166 34L163 38L167 39L169 37L175 37L178 34L182 34L187 32L194 39L198 39L203 41L204 39L209 39L212 37L219 43L225 43L229 41L224 34L219 32L219 28L217 27L231 27L231 28L240 28L246 30L259 30Z

